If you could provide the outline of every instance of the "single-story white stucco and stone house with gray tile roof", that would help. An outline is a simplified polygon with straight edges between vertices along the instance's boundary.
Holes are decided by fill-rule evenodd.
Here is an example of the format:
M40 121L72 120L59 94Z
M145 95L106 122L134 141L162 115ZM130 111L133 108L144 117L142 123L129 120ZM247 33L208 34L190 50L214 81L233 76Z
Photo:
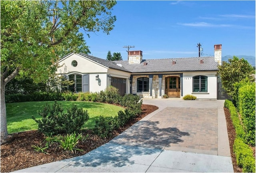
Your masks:
M222 45L214 45L214 56L171 59L142 59L142 51L129 51L127 61L108 61L70 53L59 60L59 75L75 81L73 92L100 92L115 86L121 95L138 94L141 98L182 98L186 94L198 99L220 99L218 65Z

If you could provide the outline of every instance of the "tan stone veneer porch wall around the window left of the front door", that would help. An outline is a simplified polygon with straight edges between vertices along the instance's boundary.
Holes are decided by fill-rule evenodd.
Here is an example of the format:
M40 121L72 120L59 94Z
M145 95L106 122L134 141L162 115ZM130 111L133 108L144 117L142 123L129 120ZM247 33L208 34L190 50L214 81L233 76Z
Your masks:
M177 75L163 75L162 77L162 96L165 94L165 78L166 77L172 77L172 76L176 76L176 77L180 77L179 74ZM147 77L149 78L149 75L139 75L139 76L133 76L132 78L132 94L137 94L138 96L140 96L140 98L162 98L162 96L160 96L160 92L159 92L159 77L158 75L153 75L153 80L152 80L152 96L150 96L150 88L148 92L137 92L137 79L140 77ZM150 87L150 85L149 85Z

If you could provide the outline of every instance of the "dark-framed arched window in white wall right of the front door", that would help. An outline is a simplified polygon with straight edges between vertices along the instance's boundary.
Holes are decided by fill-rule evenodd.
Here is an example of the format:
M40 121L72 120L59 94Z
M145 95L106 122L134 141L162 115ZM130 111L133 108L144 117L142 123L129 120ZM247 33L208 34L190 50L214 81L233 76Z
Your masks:
M207 76L193 77L193 92L207 92Z

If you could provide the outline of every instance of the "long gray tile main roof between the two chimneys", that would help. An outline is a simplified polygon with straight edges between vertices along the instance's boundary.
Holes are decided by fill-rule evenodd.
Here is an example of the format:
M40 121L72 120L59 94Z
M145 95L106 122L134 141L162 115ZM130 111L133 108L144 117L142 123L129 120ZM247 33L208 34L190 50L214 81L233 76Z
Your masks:
M203 59L202 64L200 60ZM172 61L176 64L172 65ZM114 61L122 64L122 67L132 73L152 73L152 72L182 72L182 71L217 71L218 62L214 57L193 57L193 58L172 58L172 59L148 59L142 60L140 64L129 64L128 61ZM144 62L147 65L144 65Z

